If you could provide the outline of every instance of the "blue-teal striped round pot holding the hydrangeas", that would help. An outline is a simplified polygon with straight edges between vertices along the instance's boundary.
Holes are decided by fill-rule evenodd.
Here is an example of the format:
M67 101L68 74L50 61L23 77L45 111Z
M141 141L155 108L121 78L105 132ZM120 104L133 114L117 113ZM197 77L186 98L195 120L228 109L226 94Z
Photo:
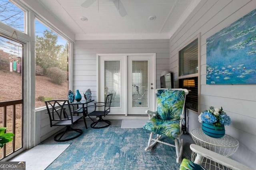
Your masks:
M203 122L202 130L206 135L210 137L221 138L225 135L224 125L217 126L212 123Z

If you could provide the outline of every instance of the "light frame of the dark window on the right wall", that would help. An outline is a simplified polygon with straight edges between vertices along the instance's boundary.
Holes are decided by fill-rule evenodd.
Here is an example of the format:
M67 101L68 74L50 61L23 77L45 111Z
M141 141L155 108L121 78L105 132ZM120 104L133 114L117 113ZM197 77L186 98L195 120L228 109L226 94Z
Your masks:
M179 59L179 55L180 55L180 51L182 49L184 49L185 47L187 47L190 43L192 43L194 40L198 39L198 72L194 73L194 74L188 74L185 76L179 76L179 65L180 65L180 59ZM178 87L180 87L179 85L179 80L180 79L185 79L185 78L193 78L193 77L198 77L198 111L194 111L192 109L188 109L194 113L199 114L200 113L200 86L201 86L201 76L200 76L200 72L201 72L201 64L200 64L200 52L201 52L201 48L200 48L200 44L201 44L201 39L200 39L200 33L198 35L196 35L195 37L193 37L192 39L190 39L190 41L188 41L185 45L183 45L182 47L180 47L180 49L178 49Z

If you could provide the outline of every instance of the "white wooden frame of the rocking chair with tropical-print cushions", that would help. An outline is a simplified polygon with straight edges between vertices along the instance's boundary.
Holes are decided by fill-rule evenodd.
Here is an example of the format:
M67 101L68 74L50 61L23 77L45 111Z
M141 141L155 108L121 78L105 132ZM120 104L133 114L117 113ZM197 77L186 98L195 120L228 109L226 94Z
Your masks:
M155 92L157 92L157 90L158 89L156 89ZM166 89L166 90L168 90L168 89ZM184 118L185 102L186 102L186 95L188 94L188 90L187 89L182 89L182 88L172 88L170 90L183 90L185 92L184 105L183 105L183 108L182 108L182 114L180 115L180 132L179 132L178 136L176 137L176 139L174 139L175 145L160 141L160 138L162 137L162 135L156 134L157 136L155 138L153 138L154 132L151 132L150 136L149 136L149 140L148 140L148 147L146 147L145 150L152 149L152 147L154 147L154 145L156 145L156 143L162 143L164 145L175 147L176 156L177 156L176 162L178 163L181 160L181 156L182 156L182 152L183 152L183 139L181 139L180 136L183 134L182 121L183 121L183 118ZM146 110L146 113L148 114L149 119L151 119L154 115L156 115L157 111Z

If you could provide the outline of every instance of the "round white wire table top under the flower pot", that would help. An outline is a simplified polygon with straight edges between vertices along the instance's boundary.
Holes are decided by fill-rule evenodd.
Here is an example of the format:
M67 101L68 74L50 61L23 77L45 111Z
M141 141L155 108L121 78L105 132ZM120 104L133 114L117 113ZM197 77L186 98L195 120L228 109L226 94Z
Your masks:
M200 140L204 143L208 143L210 145L215 145L219 147L238 147L239 142L235 138L230 135L225 134L221 138L214 138L206 135L202 129L193 129L190 133L192 138L196 138L196 140Z

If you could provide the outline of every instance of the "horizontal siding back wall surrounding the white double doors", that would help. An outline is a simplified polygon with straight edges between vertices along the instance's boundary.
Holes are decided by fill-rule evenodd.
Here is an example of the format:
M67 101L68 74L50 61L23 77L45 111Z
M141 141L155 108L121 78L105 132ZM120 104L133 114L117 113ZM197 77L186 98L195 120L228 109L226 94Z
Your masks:
M150 40L77 40L74 45L74 87L83 94L88 88L92 99L97 94L96 54L104 53L156 53L156 88L160 88L160 75L169 70L169 39Z

